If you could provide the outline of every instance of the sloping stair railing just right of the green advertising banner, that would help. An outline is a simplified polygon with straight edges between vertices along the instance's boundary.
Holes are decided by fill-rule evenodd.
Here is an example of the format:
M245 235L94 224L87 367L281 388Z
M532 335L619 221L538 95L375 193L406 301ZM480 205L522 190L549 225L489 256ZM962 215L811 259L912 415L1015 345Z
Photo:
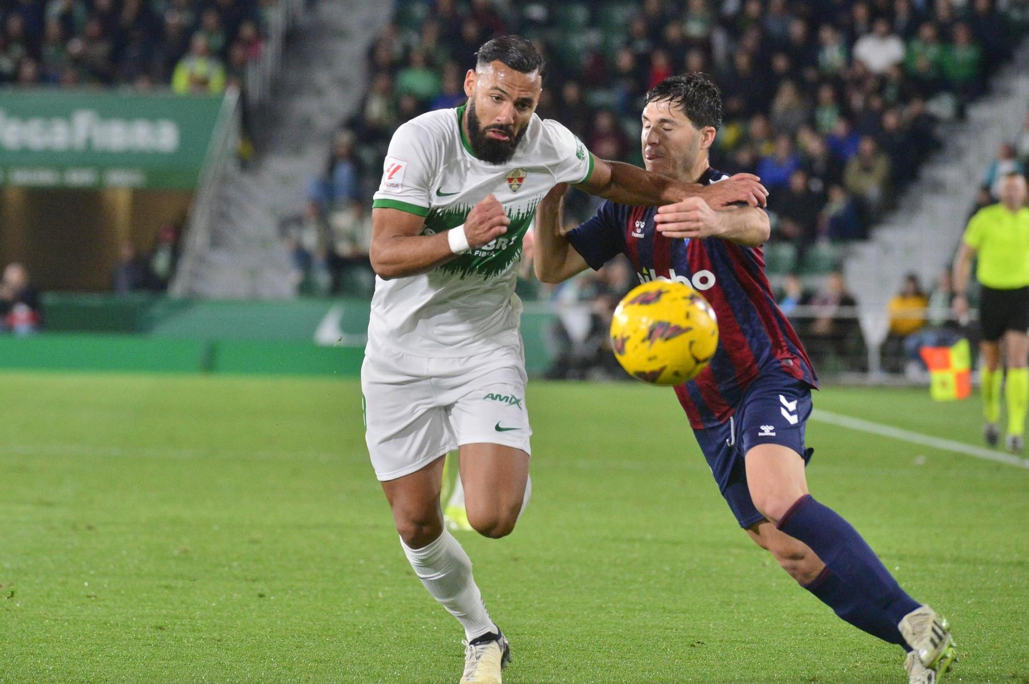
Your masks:
M168 288L172 297L185 297L188 294L197 262L211 248L211 222L214 220L222 182L226 174L239 165L237 152L240 147L240 107L239 90L227 88L204 159L204 170L193 195L189 219L183 229L179 264Z

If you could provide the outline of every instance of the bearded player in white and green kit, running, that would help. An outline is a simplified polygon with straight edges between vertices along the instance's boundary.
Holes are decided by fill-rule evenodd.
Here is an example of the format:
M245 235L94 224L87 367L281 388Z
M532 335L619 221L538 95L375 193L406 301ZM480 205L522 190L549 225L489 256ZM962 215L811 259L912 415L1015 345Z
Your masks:
M700 186L596 159L535 115L544 65L531 43L495 38L476 58L466 105L418 116L390 142L371 212L378 277L361 391L371 464L403 552L464 626L461 682L499 683L507 640L443 526L439 490L443 456L458 449L477 532L510 534L528 500L532 430L514 281L537 204L558 183L649 205L688 196L764 204L767 192L753 176Z

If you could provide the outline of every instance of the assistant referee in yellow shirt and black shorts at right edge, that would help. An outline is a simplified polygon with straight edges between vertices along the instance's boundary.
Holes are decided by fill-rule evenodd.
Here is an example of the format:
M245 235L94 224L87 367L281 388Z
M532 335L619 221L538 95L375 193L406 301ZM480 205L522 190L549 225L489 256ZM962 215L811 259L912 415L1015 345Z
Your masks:
M1007 362L1004 400L1007 403L1007 442L1012 453L1025 444L1029 408L1029 208L1026 179L1010 174L1000 185L1000 202L981 208L968 222L954 264L954 311L968 312L965 291L971 260L979 257L975 277L982 288L979 305L983 354L983 435L991 447L1000 431L1001 342Z

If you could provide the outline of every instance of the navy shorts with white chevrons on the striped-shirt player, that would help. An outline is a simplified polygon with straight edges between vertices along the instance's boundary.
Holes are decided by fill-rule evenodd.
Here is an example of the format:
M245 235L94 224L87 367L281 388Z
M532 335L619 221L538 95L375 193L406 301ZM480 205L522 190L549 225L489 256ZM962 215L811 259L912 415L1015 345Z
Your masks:
M743 459L760 444L781 444L804 458L814 450L804 446L804 428L811 417L811 386L782 371L757 376L747 387L733 417L721 425L694 430L718 491L746 529L762 520L747 488Z

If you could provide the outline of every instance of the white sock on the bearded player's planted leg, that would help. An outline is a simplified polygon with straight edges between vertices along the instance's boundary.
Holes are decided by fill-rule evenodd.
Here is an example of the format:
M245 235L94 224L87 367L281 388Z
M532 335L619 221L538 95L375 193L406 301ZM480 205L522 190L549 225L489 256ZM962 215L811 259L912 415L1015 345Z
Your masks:
M497 631L471 576L471 559L454 535L445 529L422 548L409 548L402 539L400 546L432 598L464 626L468 641Z

